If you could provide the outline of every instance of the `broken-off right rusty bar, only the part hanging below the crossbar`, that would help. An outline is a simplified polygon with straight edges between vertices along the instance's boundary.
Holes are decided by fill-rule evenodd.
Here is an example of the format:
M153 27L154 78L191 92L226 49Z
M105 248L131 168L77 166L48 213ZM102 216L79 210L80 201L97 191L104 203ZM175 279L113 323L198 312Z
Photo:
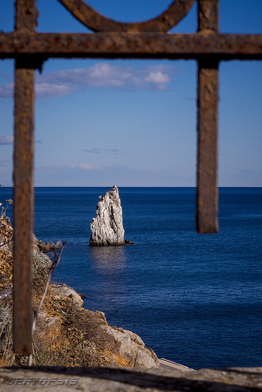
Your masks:
M197 216L200 233L215 233L217 223L218 70L198 65Z

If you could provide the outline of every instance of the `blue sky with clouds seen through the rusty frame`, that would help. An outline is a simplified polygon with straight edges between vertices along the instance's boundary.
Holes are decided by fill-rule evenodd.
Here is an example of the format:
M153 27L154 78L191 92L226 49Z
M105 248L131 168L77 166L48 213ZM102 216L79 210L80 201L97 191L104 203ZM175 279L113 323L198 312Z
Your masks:
M139 21L170 0L89 0ZM88 31L57 0L38 0L38 31ZM12 31L14 4L0 2ZM171 32L196 30L196 4ZM220 0L220 31L262 33L262 0ZM221 62L219 185L262 186L262 63ZM0 61L0 183L12 185L12 60ZM36 186L195 186L195 61L58 59L36 71Z

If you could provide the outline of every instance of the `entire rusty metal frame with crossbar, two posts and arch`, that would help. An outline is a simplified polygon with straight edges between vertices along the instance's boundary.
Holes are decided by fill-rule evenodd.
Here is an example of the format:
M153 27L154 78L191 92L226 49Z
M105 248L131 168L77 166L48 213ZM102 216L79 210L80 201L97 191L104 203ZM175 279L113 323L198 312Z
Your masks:
M217 223L218 64L262 60L261 34L220 34L219 0L174 0L159 17L119 23L84 0L58 0L95 33L36 32L36 0L16 0L15 30L0 32L0 58L15 59L14 148L14 351L32 352L31 268L33 231L34 70L48 58L167 58L198 62L198 164L196 227ZM198 3L198 31L167 34Z

